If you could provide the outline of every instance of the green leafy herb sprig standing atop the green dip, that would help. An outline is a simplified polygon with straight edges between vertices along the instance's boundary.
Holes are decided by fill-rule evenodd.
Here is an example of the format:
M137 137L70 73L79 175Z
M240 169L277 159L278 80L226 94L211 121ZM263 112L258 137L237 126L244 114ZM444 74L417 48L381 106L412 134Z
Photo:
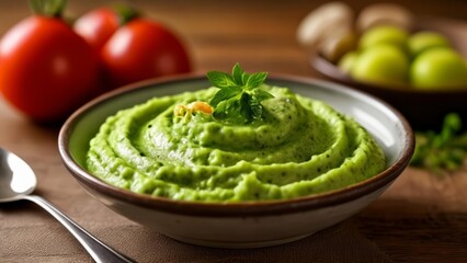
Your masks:
M244 72L239 64L232 68L232 73L208 71L207 78L219 91L210 100L214 107L213 116L229 123L251 123L260 119L263 114L261 102L274 98L269 92L259 89L265 81L267 72Z

